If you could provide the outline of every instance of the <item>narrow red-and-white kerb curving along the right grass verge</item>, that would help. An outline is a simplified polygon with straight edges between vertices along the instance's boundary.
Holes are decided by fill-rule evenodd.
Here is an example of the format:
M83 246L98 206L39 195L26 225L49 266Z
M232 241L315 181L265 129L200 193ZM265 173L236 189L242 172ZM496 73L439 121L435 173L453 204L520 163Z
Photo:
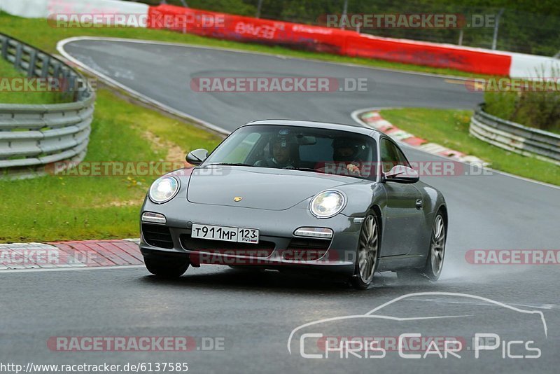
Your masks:
M451 158L452 160L456 160L459 162L467 162L484 166L489 165L488 162L484 162L483 160L473 155L466 155L463 152L455 151L454 149L441 146L440 144L430 143L426 139L416 137L413 134L406 132L405 130L401 130L400 128L390 123L388 120L385 120L383 117L381 117L379 111L381 111L381 109L362 109L360 111L355 111L354 113L352 113L352 117L358 123L362 123L366 127L370 127L374 130L384 132L393 139L402 141L412 148L416 148L433 155L440 155L442 157Z

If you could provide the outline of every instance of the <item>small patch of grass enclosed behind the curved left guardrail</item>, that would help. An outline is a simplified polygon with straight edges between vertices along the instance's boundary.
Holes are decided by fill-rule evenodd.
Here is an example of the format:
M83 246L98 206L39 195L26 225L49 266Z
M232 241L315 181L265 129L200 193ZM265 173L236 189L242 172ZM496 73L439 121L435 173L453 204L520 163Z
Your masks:
M3 81L0 87L0 103L2 104L57 104L72 101L69 95L61 92L14 92L6 89L11 78L25 78L27 75L18 71L10 62L0 58L0 79ZM11 84L10 84L11 86ZM14 87L18 89L18 87Z

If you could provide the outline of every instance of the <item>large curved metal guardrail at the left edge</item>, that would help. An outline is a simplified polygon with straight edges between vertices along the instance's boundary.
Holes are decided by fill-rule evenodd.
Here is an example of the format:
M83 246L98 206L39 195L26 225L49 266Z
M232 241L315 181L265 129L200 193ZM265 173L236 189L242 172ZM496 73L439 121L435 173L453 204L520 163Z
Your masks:
M95 94L62 60L0 33L1 57L29 78L54 78L63 104L0 104L0 178L32 177L63 160L81 161L90 139Z

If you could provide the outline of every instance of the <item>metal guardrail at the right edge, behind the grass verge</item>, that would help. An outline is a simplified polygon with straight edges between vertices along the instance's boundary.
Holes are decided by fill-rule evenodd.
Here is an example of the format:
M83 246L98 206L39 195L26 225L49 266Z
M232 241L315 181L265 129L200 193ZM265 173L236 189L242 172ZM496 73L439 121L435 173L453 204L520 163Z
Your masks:
M469 132L494 146L560 165L560 135L533 129L484 112L479 104L470 119Z

